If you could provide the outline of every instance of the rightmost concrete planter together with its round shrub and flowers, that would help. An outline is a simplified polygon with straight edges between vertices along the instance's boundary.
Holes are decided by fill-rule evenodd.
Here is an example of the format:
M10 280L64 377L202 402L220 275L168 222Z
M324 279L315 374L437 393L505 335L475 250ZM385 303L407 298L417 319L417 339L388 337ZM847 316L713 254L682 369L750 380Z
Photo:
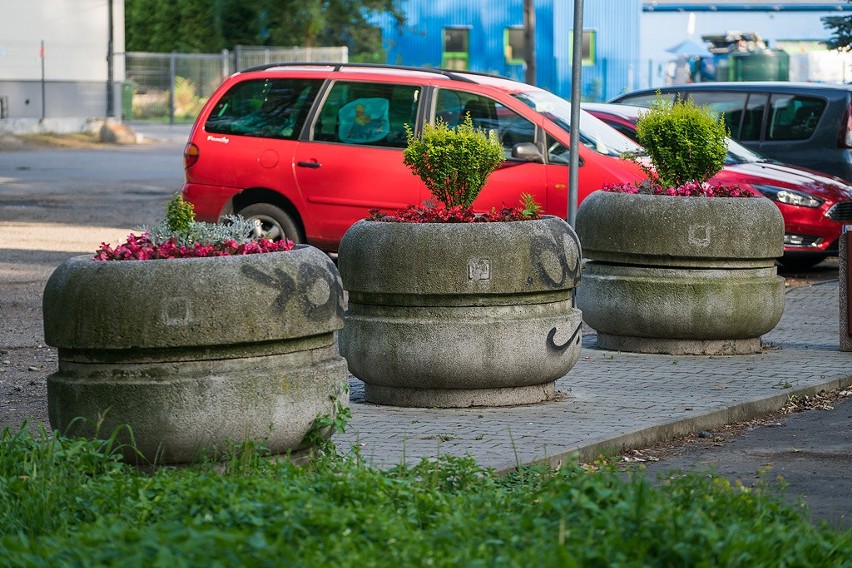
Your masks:
M577 212L587 260L577 305L597 347L760 352L760 336L784 309L775 268L783 252L780 211L768 199L725 199L755 194L708 182L726 155L725 124L708 109L658 97L637 134L649 179L593 192Z

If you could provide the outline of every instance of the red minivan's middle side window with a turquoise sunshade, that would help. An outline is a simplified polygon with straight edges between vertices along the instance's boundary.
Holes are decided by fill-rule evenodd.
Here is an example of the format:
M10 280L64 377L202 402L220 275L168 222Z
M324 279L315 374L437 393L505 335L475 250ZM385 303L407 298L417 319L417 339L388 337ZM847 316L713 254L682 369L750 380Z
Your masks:
M338 81L314 123L312 140L404 148L406 125L414 129L420 104L417 85Z

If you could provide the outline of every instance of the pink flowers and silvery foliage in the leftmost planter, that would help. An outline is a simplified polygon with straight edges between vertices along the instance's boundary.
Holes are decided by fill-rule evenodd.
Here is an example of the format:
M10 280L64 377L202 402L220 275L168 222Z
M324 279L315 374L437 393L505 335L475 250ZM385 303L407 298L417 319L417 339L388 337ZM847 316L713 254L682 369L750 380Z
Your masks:
M290 240L256 239L256 225L230 215L224 224L195 220L192 204L175 194L166 204L166 218L140 235L131 233L127 240L111 247L101 243L93 260L156 260L233 256L292 250Z

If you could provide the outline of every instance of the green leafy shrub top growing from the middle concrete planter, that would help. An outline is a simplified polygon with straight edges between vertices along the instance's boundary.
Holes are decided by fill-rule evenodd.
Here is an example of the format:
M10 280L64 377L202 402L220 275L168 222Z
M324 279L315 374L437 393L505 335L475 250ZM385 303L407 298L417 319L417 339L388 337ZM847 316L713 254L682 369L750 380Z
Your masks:
M503 162L503 145L493 132L475 128L470 116L456 128L427 124L419 137L406 126L403 163L448 208L470 207L488 176Z

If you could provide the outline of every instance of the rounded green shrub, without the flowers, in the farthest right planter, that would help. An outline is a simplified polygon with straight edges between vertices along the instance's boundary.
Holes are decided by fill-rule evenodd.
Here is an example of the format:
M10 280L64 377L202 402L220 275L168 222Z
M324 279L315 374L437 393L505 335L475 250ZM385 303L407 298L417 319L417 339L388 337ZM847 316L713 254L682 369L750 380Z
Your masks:
M716 175L725 164L727 135L723 117L692 100L673 103L657 97L636 123L637 140L653 166L644 169L663 187L701 183Z

